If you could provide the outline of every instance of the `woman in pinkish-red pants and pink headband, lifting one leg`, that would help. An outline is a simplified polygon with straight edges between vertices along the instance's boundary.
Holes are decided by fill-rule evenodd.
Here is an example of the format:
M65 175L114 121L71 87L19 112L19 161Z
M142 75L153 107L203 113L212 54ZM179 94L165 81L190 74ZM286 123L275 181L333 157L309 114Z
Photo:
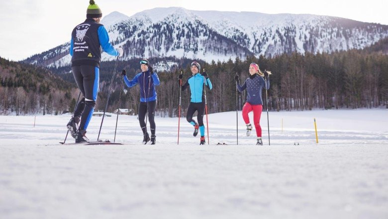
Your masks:
M260 126L260 116L263 110L263 100L261 98L261 91L266 87L267 81L267 90L270 89L270 80L269 74L266 71L261 72L259 69L259 65L256 63L251 63L249 65L249 77L245 80L244 84L240 86L238 75L234 76L234 80L237 83L237 89L239 92L243 92L245 89L247 90L247 102L244 104L242 115L243 119L247 125L247 136L251 134L252 124L249 121L248 113L253 111L253 123L256 128L257 135L257 143L256 145L263 145L263 141L261 138L261 126ZM264 80L264 78L265 80Z

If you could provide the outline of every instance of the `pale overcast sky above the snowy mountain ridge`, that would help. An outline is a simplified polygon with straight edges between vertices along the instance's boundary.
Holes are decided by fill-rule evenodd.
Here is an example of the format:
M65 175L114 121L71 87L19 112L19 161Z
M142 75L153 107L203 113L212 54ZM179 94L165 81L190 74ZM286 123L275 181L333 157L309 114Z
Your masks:
M388 0L95 0L105 16L128 16L155 7L190 10L308 13L388 25ZM339 3L337 2L339 1ZM89 0L1 0L0 57L19 61L67 41L86 18Z

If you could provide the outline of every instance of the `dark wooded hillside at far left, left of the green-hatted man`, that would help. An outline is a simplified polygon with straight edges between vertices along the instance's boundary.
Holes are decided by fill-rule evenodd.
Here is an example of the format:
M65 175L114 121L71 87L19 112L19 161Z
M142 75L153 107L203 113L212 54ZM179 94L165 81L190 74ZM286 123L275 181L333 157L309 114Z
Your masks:
M74 93L74 94L73 94ZM47 69L0 57L0 114L59 114L77 89Z

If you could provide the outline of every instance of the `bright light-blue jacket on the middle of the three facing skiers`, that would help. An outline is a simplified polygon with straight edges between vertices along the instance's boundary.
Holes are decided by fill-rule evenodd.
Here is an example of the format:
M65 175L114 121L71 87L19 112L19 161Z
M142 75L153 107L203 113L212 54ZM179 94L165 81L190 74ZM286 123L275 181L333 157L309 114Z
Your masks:
M190 92L191 92L191 102L193 103L201 103L204 102L204 95L203 95L203 81L206 85L206 87L211 90L213 89L213 86L211 85L210 79L207 78L204 80L205 77L203 77L201 74L197 73L193 76L190 76L186 83L182 85L182 91L186 90L187 87L190 86Z

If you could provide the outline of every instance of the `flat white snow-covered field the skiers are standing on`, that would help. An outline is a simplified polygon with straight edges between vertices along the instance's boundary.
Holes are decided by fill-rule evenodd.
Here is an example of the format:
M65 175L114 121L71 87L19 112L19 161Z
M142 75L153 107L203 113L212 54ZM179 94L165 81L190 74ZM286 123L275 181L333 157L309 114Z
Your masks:
M266 111L264 146L241 111L238 145L236 111L208 115L204 146L186 118L177 145L178 118L160 117L157 144L142 145L126 115L123 145L61 145L69 119L0 116L1 219L388 218L388 109L269 112L270 146ZM113 141L115 122L104 118L100 139Z

